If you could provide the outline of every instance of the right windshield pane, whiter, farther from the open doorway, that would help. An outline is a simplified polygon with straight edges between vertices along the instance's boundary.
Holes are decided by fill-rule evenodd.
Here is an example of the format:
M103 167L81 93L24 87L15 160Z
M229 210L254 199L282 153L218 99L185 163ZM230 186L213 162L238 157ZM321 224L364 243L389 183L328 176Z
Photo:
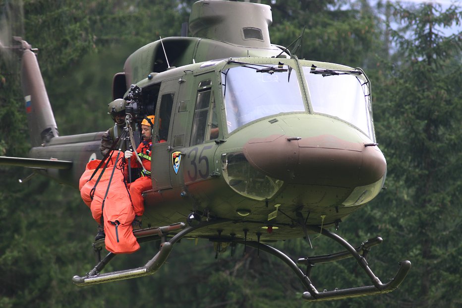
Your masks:
M315 113L340 118L374 140L369 83L360 70L331 70L303 66Z

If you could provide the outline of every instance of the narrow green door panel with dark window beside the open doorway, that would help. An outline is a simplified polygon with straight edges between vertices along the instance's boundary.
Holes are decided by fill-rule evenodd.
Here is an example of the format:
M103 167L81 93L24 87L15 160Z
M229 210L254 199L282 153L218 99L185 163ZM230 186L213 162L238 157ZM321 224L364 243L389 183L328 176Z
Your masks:
M172 149L173 105L176 104L178 80L166 80L161 84L156 119L153 129L151 175L153 190L172 188L170 183L170 151Z

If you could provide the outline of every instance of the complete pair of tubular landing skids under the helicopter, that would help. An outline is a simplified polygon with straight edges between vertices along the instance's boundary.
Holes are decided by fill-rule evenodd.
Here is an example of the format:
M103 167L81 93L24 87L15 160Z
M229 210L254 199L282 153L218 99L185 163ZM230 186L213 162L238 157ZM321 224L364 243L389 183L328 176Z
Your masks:
M88 286L92 284L99 284L99 283L106 283L110 281L116 280L123 280L123 279L130 279L136 277L143 277L147 275L154 274L167 260L172 251L173 245L178 242L181 238L186 236L191 231L197 230L199 228L203 228L206 226L211 226L214 224L223 223L225 220L215 220L210 222L202 222L197 226L188 226L184 223L173 224L166 227L160 228L151 228L151 229L143 229L135 231L135 236L138 238L138 242L146 242L152 241L156 239L161 239L161 247L159 252L146 263L143 267L138 267L134 269L122 270L122 271L115 271L105 274L100 274L99 272L108 264L109 261L115 256L114 253L109 253L106 255L102 260L100 259L96 266L87 273L84 277L74 276L72 281L77 286ZM399 269L396 273L395 277L390 280L390 282L383 284L380 279L375 276L372 270L369 268L369 265L366 261L367 253L370 251L370 247L378 245L382 243L382 239L380 237L376 237L373 239L369 239L366 242L362 243L361 246L356 248L352 247L348 242L346 242L343 238L338 236L337 234L319 228L317 226L307 226L307 228L311 231L316 233L322 234L327 236L328 238L336 241L337 243L341 244L346 248L345 251L336 252L332 254L325 254L325 255L318 255L318 256L309 256L298 259L298 264L306 265L307 269L306 272L303 272L300 267L287 256L284 252L279 251L278 249L262 244L255 241L245 241L241 239L229 239L229 238L214 238L213 240L216 242L233 242L242 244L245 246L249 246L255 249L259 249L261 251L267 252L272 254L282 261L284 261L289 268L295 273L298 279L301 281L303 287L307 290L303 293L302 298L306 301L310 302L319 302L319 301L329 301L329 300L338 300L338 299L345 299L345 298L352 298L352 297L360 297L360 296L367 296L367 295L374 295L374 294L383 294L388 293L400 286L403 282L404 278L407 275L411 267L411 263L409 261L402 261L399 263ZM167 236L173 231L179 231L176 233L172 238L167 240ZM100 244L101 245L101 244ZM232 245L232 243L231 243ZM94 245L95 248L98 248L98 245ZM349 288L349 289L335 289L333 291L323 291L318 292L314 284L310 280L310 274L312 267L317 263L328 263L328 262L335 262L341 259L354 257L358 262L359 266L364 270L369 279L372 282L370 286L363 286L363 287L356 287L356 288Z

